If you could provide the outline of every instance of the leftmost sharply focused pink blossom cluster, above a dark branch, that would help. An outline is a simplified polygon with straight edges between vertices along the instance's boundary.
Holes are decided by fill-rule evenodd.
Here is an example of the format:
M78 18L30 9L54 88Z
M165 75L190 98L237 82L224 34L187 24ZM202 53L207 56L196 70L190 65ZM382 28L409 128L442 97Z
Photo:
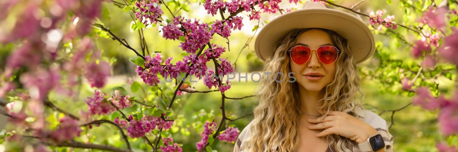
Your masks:
M89 106L88 111L91 113L91 115L109 114L113 111L116 111L116 108L107 100L105 100L104 94L101 94L100 90L97 89L94 90L94 97L87 97L85 102Z

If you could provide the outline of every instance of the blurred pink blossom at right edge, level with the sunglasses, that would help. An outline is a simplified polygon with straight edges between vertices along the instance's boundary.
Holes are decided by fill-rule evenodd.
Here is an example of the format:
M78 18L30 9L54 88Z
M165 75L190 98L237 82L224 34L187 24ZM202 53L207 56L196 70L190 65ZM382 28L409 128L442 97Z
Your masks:
M437 48L437 52L441 54L448 62L458 65L458 28L452 28L453 33L445 37L441 47Z

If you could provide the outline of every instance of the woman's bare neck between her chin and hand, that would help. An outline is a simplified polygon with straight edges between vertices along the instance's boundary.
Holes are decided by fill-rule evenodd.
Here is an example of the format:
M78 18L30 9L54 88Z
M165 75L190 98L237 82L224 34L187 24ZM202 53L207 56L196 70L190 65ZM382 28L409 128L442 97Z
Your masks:
M309 91L303 87L299 87L300 111L309 115L321 115L318 113L318 107L323 105L323 102L318 102L324 98L325 89L321 91Z

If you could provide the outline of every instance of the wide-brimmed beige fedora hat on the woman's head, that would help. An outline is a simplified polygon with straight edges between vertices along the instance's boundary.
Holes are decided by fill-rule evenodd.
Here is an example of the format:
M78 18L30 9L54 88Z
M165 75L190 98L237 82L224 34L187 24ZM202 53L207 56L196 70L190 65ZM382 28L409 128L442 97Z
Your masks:
M335 31L349 42L354 63L359 64L375 51L374 36L359 15L307 2L302 9L284 13L262 27L256 36L255 52L265 62L273 55L275 44L294 28L324 28Z

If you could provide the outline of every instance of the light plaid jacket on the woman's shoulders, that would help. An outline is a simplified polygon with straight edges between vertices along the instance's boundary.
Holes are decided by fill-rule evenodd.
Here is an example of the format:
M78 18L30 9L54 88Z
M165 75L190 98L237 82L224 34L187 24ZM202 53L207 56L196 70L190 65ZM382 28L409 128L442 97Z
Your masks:
M369 111L369 110L356 110L356 113L360 115L358 119L365 121L367 124L371 125L376 129L380 135L382 135L383 141L385 142L386 152L394 152L393 149L393 136L388 132L387 121L385 121L379 115ZM243 147L245 143L245 136L250 134L251 122L245 127L245 129L240 132L240 135L237 137L234 145L234 152L243 152ZM278 150L278 144L275 144L275 147L272 147L273 150ZM326 152L335 152L333 148L328 148ZM353 152L361 152L358 144L354 142Z

